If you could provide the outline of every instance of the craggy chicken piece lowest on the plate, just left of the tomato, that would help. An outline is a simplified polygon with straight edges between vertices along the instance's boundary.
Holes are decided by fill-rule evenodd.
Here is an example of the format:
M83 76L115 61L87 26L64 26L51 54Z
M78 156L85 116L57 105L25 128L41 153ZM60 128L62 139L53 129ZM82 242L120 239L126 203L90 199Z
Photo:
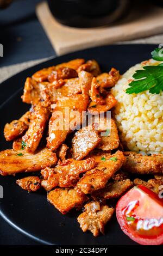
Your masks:
M83 232L90 230L93 236L98 236L100 232L104 235L105 224L111 219L114 209L97 201L86 204L84 208L85 211L78 217L80 228Z

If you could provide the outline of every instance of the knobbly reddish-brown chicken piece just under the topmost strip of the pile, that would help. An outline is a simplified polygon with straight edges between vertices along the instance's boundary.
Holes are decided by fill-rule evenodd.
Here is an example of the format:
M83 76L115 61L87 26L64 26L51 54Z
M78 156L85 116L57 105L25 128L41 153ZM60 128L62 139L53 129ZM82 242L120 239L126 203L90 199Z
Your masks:
M48 81L53 82L59 79L68 79L75 77L78 77L78 73L76 70L70 68L59 68L52 71L52 73L48 76Z

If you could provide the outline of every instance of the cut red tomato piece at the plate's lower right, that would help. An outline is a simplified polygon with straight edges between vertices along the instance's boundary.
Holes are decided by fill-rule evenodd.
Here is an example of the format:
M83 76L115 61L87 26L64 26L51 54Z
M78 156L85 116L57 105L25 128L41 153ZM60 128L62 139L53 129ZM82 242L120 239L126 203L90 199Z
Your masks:
M140 245L163 244L163 200L145 186L121 197L116 216L122 231Z

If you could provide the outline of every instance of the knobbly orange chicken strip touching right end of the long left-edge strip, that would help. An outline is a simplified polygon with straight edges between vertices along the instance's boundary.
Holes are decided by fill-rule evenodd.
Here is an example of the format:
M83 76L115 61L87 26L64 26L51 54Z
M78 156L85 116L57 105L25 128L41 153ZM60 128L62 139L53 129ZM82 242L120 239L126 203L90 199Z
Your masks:
M53 169L46 168L42 170L41 174L45 178L41 181L41 185L47 191L52 190L56 186L74 187L80 179L79 174L85 173L93 167L95 167L95 160L93 158L82 161L67 159Z

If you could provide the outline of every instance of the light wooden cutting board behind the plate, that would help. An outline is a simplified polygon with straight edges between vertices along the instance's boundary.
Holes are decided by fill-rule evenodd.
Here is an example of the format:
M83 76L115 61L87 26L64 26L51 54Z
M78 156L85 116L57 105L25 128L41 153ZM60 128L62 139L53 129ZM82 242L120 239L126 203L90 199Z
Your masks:
M61 25L51 14L46 2L37 5L36 14L58 55L163 32L163 8L141 2L132 7L120 22L99 28Z

